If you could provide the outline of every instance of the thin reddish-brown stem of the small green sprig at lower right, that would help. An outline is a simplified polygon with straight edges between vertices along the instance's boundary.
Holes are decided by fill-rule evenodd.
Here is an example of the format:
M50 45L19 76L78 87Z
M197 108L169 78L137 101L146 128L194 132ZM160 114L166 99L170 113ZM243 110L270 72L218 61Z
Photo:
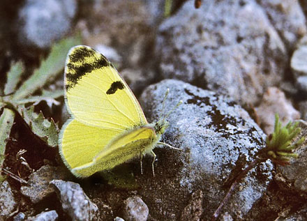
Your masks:
M256 158L253 162L251 162L248 167L246 167L246 169L244 169L238 176L237 178L234 180L234 182L232 183L230 189L228 190L227 194L225 195L223 201L220 202L220 205L218 206L218 208L216 209L216 211L214 212L214 215L212 215L211 220L215 221L218 216L220 215L220 212L222 211L222 208L225 204L227 204L227 201L230 199L230 196L232 195L232 192L234 191L234 189L237 187L237 185L239 184L239 181L241 181L242 178L244 178L246 176L246 174L248 174L248 172L250 171L250 169L253 169L253 167L255 167L258 163L260 162L264 162L267 159L264 158Z

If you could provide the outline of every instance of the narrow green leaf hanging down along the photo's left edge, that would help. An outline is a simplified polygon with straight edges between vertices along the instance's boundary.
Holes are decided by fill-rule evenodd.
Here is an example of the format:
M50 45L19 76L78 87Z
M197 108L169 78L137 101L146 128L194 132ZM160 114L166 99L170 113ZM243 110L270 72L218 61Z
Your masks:
M10 137L10 129L14 123L15 113L4 108L3 113L0 116L0 167L3 167L3 161L6 153L6 143ZM3 181L3 177L0 175L0 183Z

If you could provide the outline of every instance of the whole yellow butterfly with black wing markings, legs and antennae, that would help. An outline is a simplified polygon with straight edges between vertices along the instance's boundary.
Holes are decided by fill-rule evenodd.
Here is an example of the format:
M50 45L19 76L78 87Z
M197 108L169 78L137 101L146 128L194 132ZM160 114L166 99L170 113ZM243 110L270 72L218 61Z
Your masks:
M75 176L91 176L137 157L142 171L143 155L154 162L157 145L174 148L160 142L170 112L149 124L112 63L91 47L79 45L68 52L64 91L70 119L61 129L59 152Z

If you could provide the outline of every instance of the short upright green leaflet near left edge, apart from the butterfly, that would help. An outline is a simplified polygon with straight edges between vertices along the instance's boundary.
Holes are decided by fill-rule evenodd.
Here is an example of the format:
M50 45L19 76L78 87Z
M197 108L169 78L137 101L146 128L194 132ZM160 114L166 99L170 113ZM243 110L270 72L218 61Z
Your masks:
M20 76L24 72L24 66L22 62L12 63L10 70L7 73L6 85L4 86L4 94L13 93L17 84L20 82Z

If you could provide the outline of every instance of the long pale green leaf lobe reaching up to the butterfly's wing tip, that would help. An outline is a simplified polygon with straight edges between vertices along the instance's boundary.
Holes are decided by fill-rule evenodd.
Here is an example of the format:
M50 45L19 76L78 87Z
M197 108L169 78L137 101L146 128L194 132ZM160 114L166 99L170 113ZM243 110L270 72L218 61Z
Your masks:
M52 81L63 69L69 49L79 44L79 38L66 38L54 44L47 59L42 61L40 67L35 70L33 75L31 75L31 77L29 77L29 79L27 79L27 81L15 92L13 101L16 102L23 98L27 98L47 82Z

